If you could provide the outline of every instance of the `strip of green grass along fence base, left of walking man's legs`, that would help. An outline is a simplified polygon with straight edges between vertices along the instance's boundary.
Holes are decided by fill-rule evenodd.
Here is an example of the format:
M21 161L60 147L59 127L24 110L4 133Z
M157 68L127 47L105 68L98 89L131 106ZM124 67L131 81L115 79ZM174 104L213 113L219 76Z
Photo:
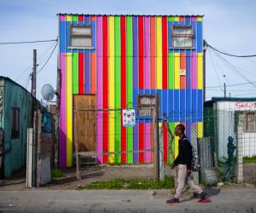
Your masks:
M79 189L171 189L173 187L173 178L166 176L163 181L155 181L154 179L97 181L90 185L79 187Z

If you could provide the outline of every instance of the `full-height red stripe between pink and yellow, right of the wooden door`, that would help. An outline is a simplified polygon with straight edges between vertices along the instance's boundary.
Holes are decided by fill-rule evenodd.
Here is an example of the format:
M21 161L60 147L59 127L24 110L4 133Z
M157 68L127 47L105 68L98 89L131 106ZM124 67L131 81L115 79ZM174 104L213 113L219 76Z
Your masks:
M102 20L103 37L103 109L108 109L108 16ZM103 152L108 153L108 112L103 112ZM103 155L103 164L108 164L108 155Z

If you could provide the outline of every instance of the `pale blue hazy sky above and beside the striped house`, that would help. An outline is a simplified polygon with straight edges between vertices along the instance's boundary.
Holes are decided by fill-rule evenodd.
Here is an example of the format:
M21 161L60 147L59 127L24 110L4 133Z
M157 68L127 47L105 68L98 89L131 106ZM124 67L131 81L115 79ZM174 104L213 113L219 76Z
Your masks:
M255 0L0 0L0 42L45 40L57 37L58 13L75 14L204 14L203 37L212 46L235 55L256 55ZM32 49L38 49L39 67L54 43L0 45L0 76L7 76L27 89L32 70ZM256 57L224 59L207 50L207 87L247 83L227 87L231 96L256 97ZM57 52L38 73L38 98L44 83L55 87ZM41 62L41 63L40 63ZM237 74L241 72L240 74ZM224 78L225 75L225 78ZM207 88L207 99L223 96L221 88Z

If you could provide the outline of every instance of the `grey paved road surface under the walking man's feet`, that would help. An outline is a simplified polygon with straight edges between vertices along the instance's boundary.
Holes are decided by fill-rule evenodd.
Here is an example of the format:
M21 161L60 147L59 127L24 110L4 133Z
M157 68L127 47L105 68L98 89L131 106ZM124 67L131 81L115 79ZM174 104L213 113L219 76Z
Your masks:
M0 188L1 190L1 188ZM0 212L256 212L256 190L208 190L212 203L165 204L170 191L156 190L0 191Z

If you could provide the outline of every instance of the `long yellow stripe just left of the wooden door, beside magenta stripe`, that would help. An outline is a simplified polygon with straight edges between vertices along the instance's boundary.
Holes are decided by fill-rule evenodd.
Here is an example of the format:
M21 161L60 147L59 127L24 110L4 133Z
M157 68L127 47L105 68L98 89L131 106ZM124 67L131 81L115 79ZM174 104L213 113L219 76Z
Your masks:
M73 117L73 101L72 101L72 54L67 53L67 167L72 166L72 117Z

